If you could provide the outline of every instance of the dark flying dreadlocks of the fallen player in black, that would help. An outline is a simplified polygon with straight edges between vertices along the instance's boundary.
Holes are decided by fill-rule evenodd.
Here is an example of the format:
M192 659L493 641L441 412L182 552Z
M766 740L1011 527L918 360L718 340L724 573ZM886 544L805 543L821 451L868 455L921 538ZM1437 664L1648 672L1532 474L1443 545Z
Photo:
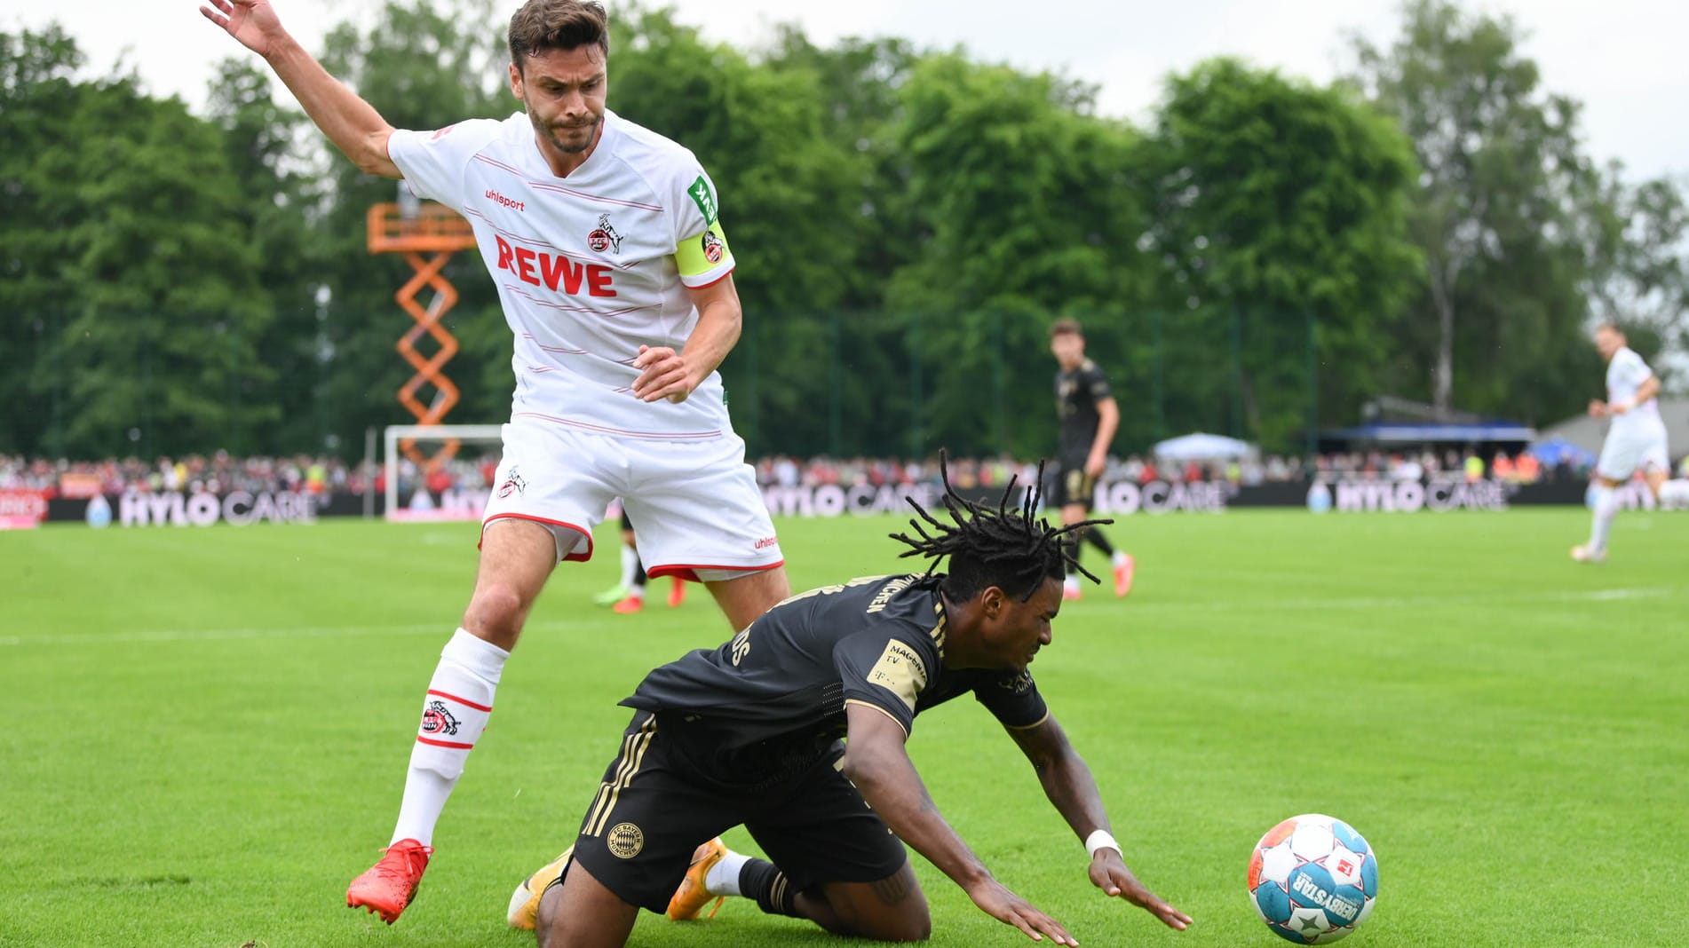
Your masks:
M1022 602L1032 599L1045 579L1062 579L1067 567L1081 572L1091 582L1100 582L1079 565L1079 533L1088 526L1113 523L1113 520L1084 520L1066 526L1051 526L1035 518L1044 491L1044 462L1039 462L1039 479L1025 493L1020 504L1010 503L1018 476L1008 479L1003 498L995 508L969 501L949 482L949 466L939 452L939 476L944 479L944 509L951 523L932 516L914 498L904 498L915 508L917 518L909 525L917 536L892 533L892 540L909 545L900 557L926 557L926 577L932 577L944 557L949 572L942 589L951 599L973 599L981 589L998 587Z

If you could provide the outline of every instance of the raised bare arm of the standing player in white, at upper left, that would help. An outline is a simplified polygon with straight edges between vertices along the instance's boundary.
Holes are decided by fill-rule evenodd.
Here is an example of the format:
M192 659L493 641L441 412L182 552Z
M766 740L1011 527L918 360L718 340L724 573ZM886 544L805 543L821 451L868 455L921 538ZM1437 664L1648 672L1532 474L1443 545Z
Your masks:
M387 157L387 125L375 106L358 98L339 79L328 74L299 40L282 27L269 0L208 0L199 7L204 19L223 29L247 49L270 64L311 121L328 135L358 169L382 177L404 177Z

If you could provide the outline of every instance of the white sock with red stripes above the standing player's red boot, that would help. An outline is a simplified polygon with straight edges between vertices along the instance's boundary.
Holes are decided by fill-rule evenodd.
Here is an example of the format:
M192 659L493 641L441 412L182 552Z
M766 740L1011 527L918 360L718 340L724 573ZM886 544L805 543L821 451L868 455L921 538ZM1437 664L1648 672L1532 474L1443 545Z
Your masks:
M451 788L458 786L470 751L486 730L493 692L510 653L458 629L439 653L434 678L422 698L422 724L410 749L405 796L399 805L394 842L434 842L434 823Z

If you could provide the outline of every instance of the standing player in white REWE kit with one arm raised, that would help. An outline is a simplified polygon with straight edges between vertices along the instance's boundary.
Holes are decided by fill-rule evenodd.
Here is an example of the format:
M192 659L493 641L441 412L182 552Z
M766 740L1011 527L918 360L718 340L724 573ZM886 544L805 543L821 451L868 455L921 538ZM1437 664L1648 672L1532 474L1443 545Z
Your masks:
M529 0L510 19L525 115L427 132L388 127L267 0L201 12L260 54L360 169L470 219L515 342L475 590L424 697L392 843L346 892L392 923L534 599L559 560L591 555L613 498L640 525L650 574L704 580L735 629L790 592L716 374L740 334L733 253L692 154L605 108L598 3Z

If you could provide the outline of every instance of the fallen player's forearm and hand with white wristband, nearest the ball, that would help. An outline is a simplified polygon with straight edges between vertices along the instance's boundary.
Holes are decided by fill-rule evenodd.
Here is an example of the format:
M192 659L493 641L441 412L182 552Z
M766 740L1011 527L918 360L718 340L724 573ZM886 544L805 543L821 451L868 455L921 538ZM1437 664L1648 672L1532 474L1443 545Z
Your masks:
M1045 717L1037 727L1010 729L1008 734L1020 746L1020 751L1032 761L1032 769L1044 784L1044 796L1056 805L1056 810L1067 820L1073 832L1081 840L1101 830L1110 833L1108 813L1103 810L1103 794L1096 789L1091 768L1073 749L1067 732L1056 724L1056 717ZM1110 840L1113 835L1108 837ZM1159 918L1169 928L1184 931L1191 924L1191 916L1164 902L1138 882L1137 875L1127 869L1125 857L1116 845L1098 847L1091 855L1091 882L1108 896L1118 896Z

